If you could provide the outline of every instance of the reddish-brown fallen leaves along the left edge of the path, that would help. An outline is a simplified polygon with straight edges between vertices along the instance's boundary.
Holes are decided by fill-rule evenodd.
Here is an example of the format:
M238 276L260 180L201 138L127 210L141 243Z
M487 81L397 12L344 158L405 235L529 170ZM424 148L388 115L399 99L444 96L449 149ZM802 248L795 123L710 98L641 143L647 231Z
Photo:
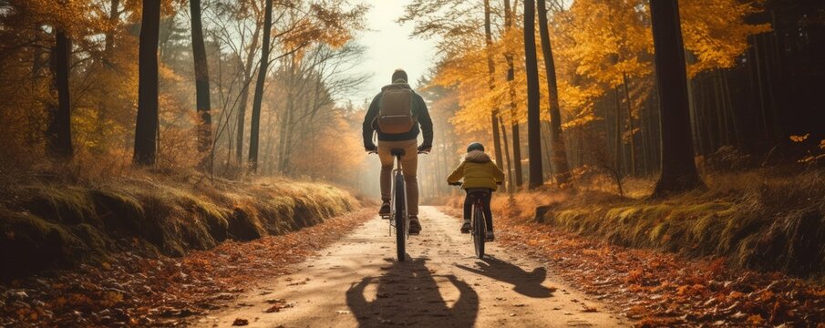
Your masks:
M225 241L180 258L123 251L98 265L0 284L0 326L186 325L194 316L226 306L245 291L242 286L290 272L290 265L339 240L372 214L359 210L301 231ZM281 300L266 311L292 306ZM233 325L248 323L238 318Z

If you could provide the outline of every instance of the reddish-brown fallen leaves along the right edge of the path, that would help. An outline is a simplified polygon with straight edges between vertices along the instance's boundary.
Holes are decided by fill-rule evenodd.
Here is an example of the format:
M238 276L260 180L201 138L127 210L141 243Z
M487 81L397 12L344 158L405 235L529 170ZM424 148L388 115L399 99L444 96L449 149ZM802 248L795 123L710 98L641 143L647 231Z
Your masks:
M460 210L441 210L460 216ZM497 237L634 325L825 326L825 284L729 267L725 258L616 246L549 224L503 216Z

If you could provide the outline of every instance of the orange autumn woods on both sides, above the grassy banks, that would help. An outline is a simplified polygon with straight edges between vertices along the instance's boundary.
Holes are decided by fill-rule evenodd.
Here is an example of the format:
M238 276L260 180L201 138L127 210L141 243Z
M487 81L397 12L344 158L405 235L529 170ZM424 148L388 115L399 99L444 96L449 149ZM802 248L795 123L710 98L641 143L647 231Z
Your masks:
M437 50L424 54L435 65L417 81L443 122L424 179L438 185L441 167L471 140L495 145L513 187L539 171L528 168L531 154L544 158L533 184L589 169L658 174L663 117L650 2L530 4L413 0L402 8L397 24ZM818 159L820 5L678 5L699 169L731 165L719 158L747 158L750 167L766 157ZM344 172L366 170L356 133L366 104L351 99L370 78L358 66L376 45L357 41L369 13L368 3L346 0L0 2L0 165L73 159L124 169L134 159L232 179L254 172L361 186L361 173ZM144 36L152 26L157 40ZM538 128L530 128L533 112Z

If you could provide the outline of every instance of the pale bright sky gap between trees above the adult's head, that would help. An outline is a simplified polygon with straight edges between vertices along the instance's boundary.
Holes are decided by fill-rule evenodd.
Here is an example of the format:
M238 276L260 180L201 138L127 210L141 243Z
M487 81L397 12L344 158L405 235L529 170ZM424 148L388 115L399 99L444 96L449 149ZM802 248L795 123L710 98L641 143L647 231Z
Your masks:
M381 87L389 84L396 68L407 71L409 82L416 87L416 81L432 67L435 42L413 38L412 24L399 26L396 20L404 13L404 6L410 0L364 0L372 5L366 15L368 30L357 36L358 44L366 47L364 61L358 73L371 74L366 86L351 97L358 106L364 99L372 100Z

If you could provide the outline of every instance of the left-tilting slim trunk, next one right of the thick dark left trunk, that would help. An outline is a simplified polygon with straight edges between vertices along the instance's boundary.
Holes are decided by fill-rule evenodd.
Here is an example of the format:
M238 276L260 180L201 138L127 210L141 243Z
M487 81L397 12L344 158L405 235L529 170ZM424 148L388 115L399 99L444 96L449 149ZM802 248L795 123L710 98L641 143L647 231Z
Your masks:
M206 45L203 43L203 28L201 27L201 0L190 0L192 58L195 65L195 92L197 99L198 118L198 151L201 152L201 167L206 168L210 156L206 156L211 149L212 118L209 97L209 62L206 60Z

